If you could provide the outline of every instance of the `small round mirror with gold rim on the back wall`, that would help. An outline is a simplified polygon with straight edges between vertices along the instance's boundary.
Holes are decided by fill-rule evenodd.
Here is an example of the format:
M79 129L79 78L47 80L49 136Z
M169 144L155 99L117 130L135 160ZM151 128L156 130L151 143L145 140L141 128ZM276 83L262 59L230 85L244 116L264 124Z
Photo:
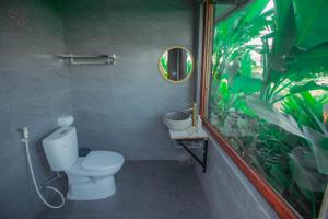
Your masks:
M161 55L159 70L162 77L169 82L184 82L194 71L192 55L184 47L171 47Z

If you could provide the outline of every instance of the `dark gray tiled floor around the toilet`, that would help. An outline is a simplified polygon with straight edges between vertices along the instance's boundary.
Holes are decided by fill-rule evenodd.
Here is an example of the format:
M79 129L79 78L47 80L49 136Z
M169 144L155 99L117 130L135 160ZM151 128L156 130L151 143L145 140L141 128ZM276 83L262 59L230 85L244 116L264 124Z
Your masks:
M67 201L37 219L209 219L192 165L175 161L128 161L116 176L117 192L102 200Z

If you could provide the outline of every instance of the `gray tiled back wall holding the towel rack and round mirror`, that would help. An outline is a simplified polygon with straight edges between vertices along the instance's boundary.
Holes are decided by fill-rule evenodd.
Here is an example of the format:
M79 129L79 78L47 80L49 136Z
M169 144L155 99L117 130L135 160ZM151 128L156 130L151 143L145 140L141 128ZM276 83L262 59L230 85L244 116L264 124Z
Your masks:
M116 54L110 67L71 67L80 147L126 159L177 159L162 115L192 103L192 80L165 81L157 59L171 46L194 49L192 0L71 0L65 3L67 53Z

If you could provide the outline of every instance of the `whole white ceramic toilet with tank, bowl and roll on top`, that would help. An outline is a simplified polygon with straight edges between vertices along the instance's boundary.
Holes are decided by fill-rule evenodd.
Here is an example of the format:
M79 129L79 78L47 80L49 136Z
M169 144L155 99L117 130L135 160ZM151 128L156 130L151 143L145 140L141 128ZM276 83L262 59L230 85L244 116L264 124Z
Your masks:
M43 140L43 147L52 171L68 175L68 199L93 200L106 198L116 191L114 175L121 169L124 157L112 151L92 151L78 155L78 138L71 116L58 118L62 126Z

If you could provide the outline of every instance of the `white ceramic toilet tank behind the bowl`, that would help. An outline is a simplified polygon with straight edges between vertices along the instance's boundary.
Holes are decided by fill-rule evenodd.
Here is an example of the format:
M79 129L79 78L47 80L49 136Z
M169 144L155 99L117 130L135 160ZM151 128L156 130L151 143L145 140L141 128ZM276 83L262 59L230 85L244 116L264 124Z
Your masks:
M74 127L61 127L43 140L43 147L52 171L66 171L78 159L78 139Z

